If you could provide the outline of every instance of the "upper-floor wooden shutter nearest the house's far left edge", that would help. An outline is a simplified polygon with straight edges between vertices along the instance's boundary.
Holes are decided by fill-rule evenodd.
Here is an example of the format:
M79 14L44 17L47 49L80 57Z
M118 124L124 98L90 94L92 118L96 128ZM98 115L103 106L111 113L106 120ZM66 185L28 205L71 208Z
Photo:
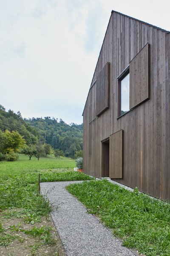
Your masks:
M96 78L96 116L109 107L109 62Z

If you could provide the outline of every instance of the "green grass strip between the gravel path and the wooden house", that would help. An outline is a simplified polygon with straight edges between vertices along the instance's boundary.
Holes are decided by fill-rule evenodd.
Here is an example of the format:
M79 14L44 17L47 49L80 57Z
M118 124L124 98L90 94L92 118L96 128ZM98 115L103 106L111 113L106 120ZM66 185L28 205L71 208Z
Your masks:
M170 204L107 180L67 186L123 244L147 256L170 256Z

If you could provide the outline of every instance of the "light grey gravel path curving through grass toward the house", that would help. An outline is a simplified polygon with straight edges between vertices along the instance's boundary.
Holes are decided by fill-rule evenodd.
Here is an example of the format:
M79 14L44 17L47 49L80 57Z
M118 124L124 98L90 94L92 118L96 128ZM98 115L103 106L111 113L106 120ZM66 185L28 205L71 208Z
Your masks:
M41 192L59 207L51 213L68 256L134 256L65 186L81 181L41 183Z

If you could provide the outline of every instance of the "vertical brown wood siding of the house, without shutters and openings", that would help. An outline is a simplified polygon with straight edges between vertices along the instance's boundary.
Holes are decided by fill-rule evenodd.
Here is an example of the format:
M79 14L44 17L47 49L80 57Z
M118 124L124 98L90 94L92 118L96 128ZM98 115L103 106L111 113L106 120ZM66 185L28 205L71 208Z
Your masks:
M149 100L117 119L116 78L147 43ZM84 171L102 177L102 141L123 130L123 176L116 180L170 200L170 33L113 12L92 83L106 62L110 66L109 108L96 117L96 83L83 113Z

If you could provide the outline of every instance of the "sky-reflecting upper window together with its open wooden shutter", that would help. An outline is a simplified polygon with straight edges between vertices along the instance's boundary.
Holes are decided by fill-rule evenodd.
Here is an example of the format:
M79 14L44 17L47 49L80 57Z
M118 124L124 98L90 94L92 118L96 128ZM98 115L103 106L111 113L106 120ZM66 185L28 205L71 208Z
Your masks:
M118 119L149 99L149 44L130 61L118 79Z

